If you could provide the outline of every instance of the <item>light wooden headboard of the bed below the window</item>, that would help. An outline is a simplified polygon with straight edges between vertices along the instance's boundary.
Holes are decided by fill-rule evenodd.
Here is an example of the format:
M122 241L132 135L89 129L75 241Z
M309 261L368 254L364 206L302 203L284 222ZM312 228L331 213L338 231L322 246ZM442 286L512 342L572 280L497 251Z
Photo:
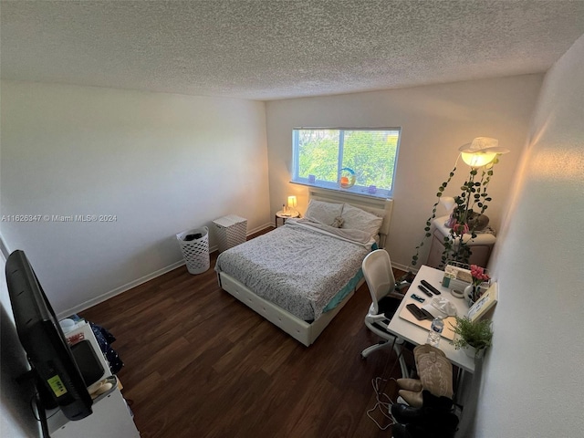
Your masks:
M361 196L354 193L316 187L310 187L308 189L308 199L315 199L326 203L350 203L361 210L377 215L380 215L381 211L383 211L383 222L380 227L380 246L381 248L385 246L385 239L390 234L391 211L393 209L392 199Z

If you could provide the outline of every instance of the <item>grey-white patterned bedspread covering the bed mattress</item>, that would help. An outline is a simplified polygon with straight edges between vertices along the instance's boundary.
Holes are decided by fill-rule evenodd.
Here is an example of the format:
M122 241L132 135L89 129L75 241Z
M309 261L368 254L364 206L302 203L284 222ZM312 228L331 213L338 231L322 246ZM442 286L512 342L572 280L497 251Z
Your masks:
M356 276L372 243L359 230L288 220L266 235L224 251L215 270L297 318L313 320Z

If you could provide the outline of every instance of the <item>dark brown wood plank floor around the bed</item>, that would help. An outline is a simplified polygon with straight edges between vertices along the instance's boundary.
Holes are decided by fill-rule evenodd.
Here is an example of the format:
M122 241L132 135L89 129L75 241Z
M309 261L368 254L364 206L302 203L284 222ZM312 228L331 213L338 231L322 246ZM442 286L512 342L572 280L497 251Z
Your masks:
M391 437L366 413L371 380L394 363L389 349L360 359L379 340L363 324L367 286L307 348L221 290L215 258L202 275L183 266L81 313L117 338L141 436ZM394 383L385 391L394 398Z

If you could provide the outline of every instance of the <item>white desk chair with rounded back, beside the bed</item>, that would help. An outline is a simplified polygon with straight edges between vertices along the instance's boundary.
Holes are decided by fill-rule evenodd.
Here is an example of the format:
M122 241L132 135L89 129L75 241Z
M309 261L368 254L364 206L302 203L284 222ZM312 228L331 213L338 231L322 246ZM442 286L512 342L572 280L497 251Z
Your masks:
M372 251L363 259L361 267L371 294L371 305L365 317L365 325L383 339L380 343L361 351L361 358L367 358L377 349L393 346L400 360L401 374L403 377L408 377L409 371L401 354L403 340L395 339L386 329L403 298L403 295L395 290L395 276L391 269L390 255L384 249Z

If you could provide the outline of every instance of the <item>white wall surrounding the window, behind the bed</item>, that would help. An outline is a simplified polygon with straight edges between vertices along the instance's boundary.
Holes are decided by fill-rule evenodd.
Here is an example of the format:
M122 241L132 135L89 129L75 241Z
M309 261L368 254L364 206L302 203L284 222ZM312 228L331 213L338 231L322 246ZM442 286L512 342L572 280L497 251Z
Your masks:
M295 127L401 127L398 171L388 249L395 266L409 266L423 238L438 187L454 166L458 148L474 137L495 137L512 150L495 167L486 214L498 229L541 75L474 80L453 84L266 103L270 208L276 213L288 194L306 209L306 187L289 184ZM461 161L447 195L460 193L469 168ZM439 210L438 214L443 214ZM421 260L430 242L422 248Z

